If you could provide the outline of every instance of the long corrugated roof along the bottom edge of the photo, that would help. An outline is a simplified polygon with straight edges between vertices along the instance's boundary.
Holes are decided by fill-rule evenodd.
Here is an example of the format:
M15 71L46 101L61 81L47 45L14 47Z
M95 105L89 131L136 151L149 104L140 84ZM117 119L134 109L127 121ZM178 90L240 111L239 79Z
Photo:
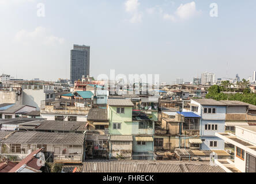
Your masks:
M209 163L160 160L88 160L83 173L225 173Z

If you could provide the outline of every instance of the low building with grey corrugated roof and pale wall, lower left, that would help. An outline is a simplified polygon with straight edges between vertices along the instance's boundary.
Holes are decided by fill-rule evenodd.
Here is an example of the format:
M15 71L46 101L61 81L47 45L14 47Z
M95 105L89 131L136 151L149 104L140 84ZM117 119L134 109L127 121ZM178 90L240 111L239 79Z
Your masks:
M83 133L14 131L0 141L0 155L22 160L29 153L44 148L54 155L54 162L82 162L84 139Z

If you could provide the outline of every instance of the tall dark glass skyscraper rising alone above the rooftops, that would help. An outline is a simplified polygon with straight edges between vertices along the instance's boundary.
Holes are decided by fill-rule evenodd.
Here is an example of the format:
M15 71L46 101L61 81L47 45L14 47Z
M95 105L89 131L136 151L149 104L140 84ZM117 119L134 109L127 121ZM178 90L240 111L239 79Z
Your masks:
M74 45L70 51L70 81L81 80L90 74L90 46Z

